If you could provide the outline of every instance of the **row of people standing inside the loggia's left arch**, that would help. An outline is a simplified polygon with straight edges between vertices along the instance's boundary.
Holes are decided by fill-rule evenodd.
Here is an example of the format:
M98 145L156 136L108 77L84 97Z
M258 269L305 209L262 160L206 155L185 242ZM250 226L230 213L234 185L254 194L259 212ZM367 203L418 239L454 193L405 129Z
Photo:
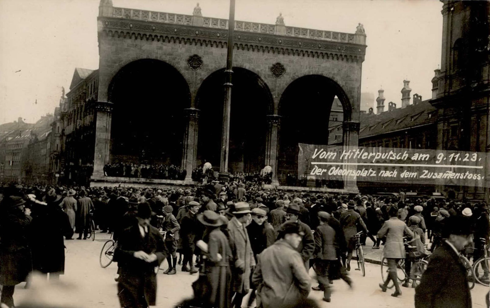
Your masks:
M187 172L175 165L114 163L104 166L107 177L184 180Z

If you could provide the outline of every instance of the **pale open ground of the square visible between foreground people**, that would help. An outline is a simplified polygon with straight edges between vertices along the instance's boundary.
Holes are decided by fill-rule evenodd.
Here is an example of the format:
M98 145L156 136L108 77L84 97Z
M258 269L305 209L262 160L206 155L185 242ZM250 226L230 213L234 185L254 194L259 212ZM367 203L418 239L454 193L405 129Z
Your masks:
M48 303L57 302L59 307L119 307L117 298L117 282L114 281L116 276L117 265L111 264L107 268L99 266L98 258L100 249L104 242L109 238L106 233L97 233L96 240L69 240L65 241L66 249L66 269L65 275L61 276L61 282L68 284L62 288L57 288L51 292L37 290L35 287L24 289L24 283L16 287L14 299L20 303L25 298L44 299ZM366 254L369 257L379 259L381 250L370 249L372 245L369 240L367 243ZM321 301L323 292L311 291L310 297L319 301L320 307L336 308L406 308L414 307L413 288L402 287L402 296L393 298L390 296L391 290L383 293L378 287L381 282L380 266L376 264L366 264L366 277L361 276L360 271L354 270L356 262L352 261L352 270L349 273L354 281L354 287L349 289L343 281L335 281L332 285L333 294L332 302L325 303ZM162 268L167 268L167 262L164 261ZM313 270L310 271L312 276L312 285L316 285ZM173 307L180 300L192 296L191 284L197 279L197 275L189 275L180 271L177 265L176 275L163 275L158 273L158 294L157 306L162 308ZM483 285L476 285L471 291L473 307L485 307L485 295L489 288ZM245 306L244 300L244 306ZM51 306L48 306L51 307Z

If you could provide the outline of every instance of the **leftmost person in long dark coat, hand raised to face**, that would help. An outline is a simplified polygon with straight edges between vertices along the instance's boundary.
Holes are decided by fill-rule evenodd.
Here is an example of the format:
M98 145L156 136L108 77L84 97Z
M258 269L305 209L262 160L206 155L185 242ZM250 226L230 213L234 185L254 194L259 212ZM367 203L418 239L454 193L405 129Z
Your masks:
M24 282L32 270L27 228L32 221L21 197L11 196L0 202L0 284L1 303L14 307L15 285Z

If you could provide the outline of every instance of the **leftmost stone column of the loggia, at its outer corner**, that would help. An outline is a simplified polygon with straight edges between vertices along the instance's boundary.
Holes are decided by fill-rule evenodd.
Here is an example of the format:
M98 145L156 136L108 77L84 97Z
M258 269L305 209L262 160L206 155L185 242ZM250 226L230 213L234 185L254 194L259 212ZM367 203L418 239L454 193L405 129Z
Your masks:
M92 179L104 177L104 166L110 161L112 103L98 102L95 108L95 153Z

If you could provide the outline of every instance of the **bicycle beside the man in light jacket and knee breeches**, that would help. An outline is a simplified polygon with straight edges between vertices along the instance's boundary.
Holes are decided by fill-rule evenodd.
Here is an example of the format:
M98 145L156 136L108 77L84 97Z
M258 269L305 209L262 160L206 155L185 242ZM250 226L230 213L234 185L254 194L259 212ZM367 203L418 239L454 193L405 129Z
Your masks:
M416 246L410 246L409 242L405 242L404 245L406 247L406 251L411 251L417 248ZM406 254L409 255L410 253ZM420 284L422 274L423 272L425 272L425 269L427 269L427 265L429 264L429 262L424 259L424 255L418 255L415 257L416 259L412 264L412 268L409 273L410 275L408 276L408 279L412 280L413 288L417 287L417 285ZM399 259L396 262L396 277L398 278L398 281L400 283L403 283L407 279L407 273L405 272L405 259ZM383 279L383 281L386 281L386 279L388 278L388 262L386 261L384 252L381 253L381 278ZM393 286L394 283L390 281L387 287L391 289Z

